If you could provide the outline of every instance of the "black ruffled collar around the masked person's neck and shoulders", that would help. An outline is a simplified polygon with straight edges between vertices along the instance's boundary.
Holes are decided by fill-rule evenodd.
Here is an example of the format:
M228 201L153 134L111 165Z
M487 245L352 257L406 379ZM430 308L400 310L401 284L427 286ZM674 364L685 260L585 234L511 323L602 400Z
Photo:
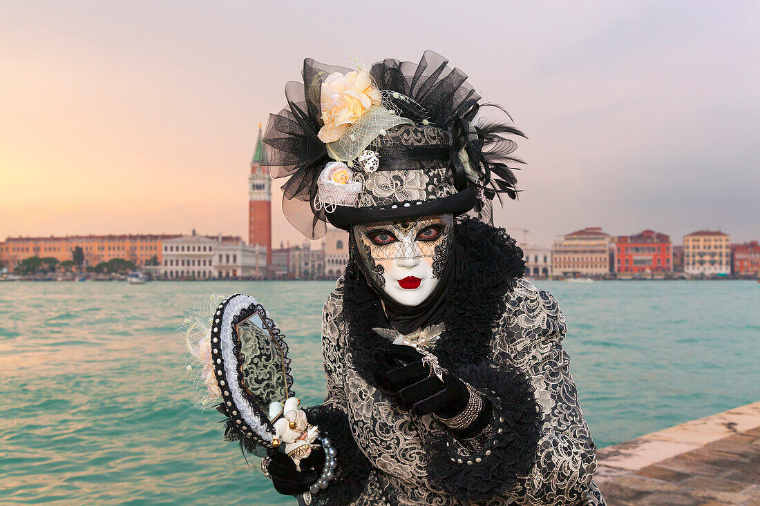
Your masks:
M456 240L463 249L461 275L448 289L446 330L432 349L451 372L488 358L492 328L506 309L505 295L525 269L523 251L505 229L464 217L457 224ZM372 330L382 327L385 318L378 296L356 266L347 269L343 309L353 366L367 383L379 387L372 352L390 342Z

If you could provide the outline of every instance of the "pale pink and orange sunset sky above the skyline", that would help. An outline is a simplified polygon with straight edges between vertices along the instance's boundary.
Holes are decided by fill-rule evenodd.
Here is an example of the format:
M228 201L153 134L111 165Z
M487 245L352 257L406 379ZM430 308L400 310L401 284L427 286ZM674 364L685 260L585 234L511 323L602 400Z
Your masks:
M496 224L541 245L584 226L760 239L756 1L6 0L0 20L0 240L247 239L258 123L302 60L425 49L530 138ZM280 198L274 241L302 242Z

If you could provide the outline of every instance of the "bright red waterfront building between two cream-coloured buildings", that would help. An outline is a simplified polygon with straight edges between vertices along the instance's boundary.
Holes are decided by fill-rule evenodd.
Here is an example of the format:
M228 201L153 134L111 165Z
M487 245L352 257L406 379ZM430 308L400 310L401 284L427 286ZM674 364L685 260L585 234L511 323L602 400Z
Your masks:
M670 237L654 230L619 236L615 243L615 272L641 274L673 271Z

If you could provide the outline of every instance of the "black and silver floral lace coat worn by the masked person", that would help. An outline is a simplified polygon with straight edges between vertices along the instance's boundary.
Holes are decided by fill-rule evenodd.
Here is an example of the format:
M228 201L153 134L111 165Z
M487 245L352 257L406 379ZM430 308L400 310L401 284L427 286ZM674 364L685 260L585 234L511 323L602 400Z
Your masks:
M507 311L492 329L490 358L508 362L530 378L540 406L540 441L533 469L502 495L464 502L432 486L424 465L427 452L420 425L411 423L409 413L391 406L354 370L343 292L341 278L322 313L328 387L324 404L347 414L353 440L372 466L363 492L350 504L605 504L593 480L596 448L578 403L570 359L562 347L565 317L553 296L527 280L518 280L505 296ZM423 417L422 425L422 430L435 430L429 416ZM451 444L457 442L452 438ZM483 450L483 458L488 458L487 447ZM462 463L453 465L478 465L464 447L457 451ZM350 469L340 470L338 476L353 479Z

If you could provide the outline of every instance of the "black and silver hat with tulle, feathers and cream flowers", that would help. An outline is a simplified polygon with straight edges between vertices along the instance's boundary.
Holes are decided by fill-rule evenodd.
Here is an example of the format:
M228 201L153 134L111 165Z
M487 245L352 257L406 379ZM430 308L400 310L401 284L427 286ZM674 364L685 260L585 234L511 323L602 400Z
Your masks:
M477 121L480 96L435 52L340 68L306 59L288 106L270 115L262 165L288 177L283 212L306 237L359 223L477 210L515 198L509 163L521 132Z

